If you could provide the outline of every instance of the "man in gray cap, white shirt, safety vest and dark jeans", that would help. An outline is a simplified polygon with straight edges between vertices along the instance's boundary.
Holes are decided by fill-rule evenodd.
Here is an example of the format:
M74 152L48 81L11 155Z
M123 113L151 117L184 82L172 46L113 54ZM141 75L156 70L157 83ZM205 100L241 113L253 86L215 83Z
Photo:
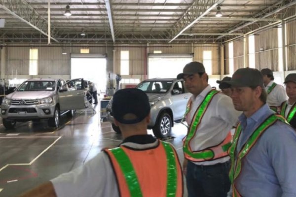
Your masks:
M185 112L189 127L183 144L188 197L225 197L230 187L227 149L230 129L241 112L234 109L230 97L211 88L207 76L199 62L188 63L177 76L192 94Z

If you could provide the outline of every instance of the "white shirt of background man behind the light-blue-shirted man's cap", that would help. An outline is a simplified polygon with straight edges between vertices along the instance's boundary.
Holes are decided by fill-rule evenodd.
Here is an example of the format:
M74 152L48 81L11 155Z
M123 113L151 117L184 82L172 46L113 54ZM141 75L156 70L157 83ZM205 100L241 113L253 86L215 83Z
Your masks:
M270 81L267 86L265 87L265 91L267 92L267 90L269 89L270 86L272 86L272 84L274 83L274 81ZM286 91L285 88L279 84L276 84L276 86L273 88L273 90L267 95L267 104L269 106L281 106L281 104L287 100L288 97L286 95Z

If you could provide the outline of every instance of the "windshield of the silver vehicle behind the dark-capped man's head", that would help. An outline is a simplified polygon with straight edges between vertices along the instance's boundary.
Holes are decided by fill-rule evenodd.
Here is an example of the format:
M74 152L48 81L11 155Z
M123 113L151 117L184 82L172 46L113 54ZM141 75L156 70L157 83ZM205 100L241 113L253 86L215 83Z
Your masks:
M146 93L166 93L172 83L172 81L144 81L140 83L137 88Z

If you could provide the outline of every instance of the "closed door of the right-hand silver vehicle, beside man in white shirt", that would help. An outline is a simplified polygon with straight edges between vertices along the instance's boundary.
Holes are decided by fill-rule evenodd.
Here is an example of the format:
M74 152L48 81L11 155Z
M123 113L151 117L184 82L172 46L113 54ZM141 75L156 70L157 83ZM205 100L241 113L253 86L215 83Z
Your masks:
M185 87L183 81L176 81L171 90L172 100L173 100L173 112L174 120L180 120L183 118L186 110L187 102L191 96L190 93L185 92ZM174 90L178 90L178 93L173 93ZM176 92L176 91L175 91Z

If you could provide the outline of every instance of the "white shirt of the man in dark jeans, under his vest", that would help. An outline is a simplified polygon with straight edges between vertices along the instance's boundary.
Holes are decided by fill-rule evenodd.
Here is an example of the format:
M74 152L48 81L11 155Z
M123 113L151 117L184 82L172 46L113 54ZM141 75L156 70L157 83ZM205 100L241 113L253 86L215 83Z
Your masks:
M196 98L192 96L190 99L191 109L186 117L186 122L190 125L191 120L197 107L201 104L202 100L211 91L211 86L208 85ZM195 136L189 142L192 151L203 150L208 147L220 144L225 138L227 133L233 126L238 123L238 116L242 112L236 111L232 104L232 99L223 94L217 94L209 104L200 125L197 128ZM229 160L229 157L217 159L214 161L198 162L198 165L213 165L223 163Z

